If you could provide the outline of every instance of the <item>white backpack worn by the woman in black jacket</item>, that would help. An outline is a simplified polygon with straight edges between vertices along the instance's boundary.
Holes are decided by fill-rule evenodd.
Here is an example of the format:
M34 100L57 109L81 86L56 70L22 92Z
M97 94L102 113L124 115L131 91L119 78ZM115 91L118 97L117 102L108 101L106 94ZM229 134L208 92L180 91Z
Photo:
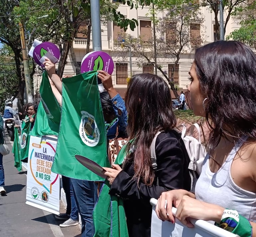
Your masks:
M183 126L182 131L178 130L179 127ZM196 128L199 139L197 140L195 137L192 136L194 128ZM197 123L194 123L191 125L190 128L190 134L187 134L187 127L185 124L181 124L175 129L178 133L181 133L181 138L185 144L187 153L190 158L190 163L188 169L190 170L190 176L191 176L191 192L194 192L196 181L201 174L202 171L202 165L204 158L206 156L206 149L205 145L201 144L201 132L200 127ZM151 151L151 161L153 169L157 169L157 162L156 162L156 139L157 136L162 131L159 131L156 133L155 137L153 138L153 141L150 146Z

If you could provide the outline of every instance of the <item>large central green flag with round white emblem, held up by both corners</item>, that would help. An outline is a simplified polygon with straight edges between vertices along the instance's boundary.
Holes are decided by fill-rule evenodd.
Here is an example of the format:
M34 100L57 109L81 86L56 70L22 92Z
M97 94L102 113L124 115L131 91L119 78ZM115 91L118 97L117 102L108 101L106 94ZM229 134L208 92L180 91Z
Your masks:
M52 172L81 180L104 180L75 159L81 155L109 167L97 72L63 78L62 82L62 116Z

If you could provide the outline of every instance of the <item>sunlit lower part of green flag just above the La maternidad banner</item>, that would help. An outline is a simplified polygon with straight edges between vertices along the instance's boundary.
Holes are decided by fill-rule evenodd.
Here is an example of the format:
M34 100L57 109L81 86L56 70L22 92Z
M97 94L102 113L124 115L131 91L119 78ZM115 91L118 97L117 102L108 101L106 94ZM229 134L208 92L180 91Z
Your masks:
M37 118L29 135L40 137L47 135L58 136L59 126L60 124L57 124L49 119L44 110L43 103L40 102L37 109Z

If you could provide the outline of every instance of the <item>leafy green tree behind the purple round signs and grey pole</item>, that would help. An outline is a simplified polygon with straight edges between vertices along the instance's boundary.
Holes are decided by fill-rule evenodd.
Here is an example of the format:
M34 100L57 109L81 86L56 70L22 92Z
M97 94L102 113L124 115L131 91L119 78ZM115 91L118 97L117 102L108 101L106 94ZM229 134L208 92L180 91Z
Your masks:
M128 2L130 3L130 1ZM119 3L101 0L101 21L106 23L107 20L115 20L125 30L128 25L133 30L136 24L138 25L137 20L126 19L120 12L117 12L118 6ZM86 23L87 28L82 33L87 36L86 53L89 52L91 35L89 0L21 0L15 11L17 21L26 22L26 29L30 33L28 47L35 38L42 41L52 41L58 44L61 51L58 74L60 76L63 74L69 51L76 70L80 70L75 58L73 40L79 33L81 24ZM42 20L40 24L38 19Z

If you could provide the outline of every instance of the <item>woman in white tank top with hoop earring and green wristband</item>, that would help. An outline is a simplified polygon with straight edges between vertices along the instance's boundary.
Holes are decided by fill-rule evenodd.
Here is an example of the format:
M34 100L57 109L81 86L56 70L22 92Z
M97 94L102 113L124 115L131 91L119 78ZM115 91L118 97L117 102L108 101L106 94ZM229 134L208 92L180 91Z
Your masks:
M162 193L158 217L174 222L174 205L176 218L188 227L192 217L256 237L256 55L241 42L213 42L195 50L189 74L193 112L211 128L208 154L195 194Z

